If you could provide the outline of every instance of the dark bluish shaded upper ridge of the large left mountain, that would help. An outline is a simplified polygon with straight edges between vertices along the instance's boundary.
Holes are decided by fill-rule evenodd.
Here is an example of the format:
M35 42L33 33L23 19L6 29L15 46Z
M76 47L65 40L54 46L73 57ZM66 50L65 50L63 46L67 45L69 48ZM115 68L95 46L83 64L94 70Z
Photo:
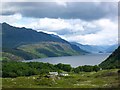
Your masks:
M24 27L13 27L7 23L2 24L2 46L4 47L14 48L23 44L37 43L42 41L68 43L63 39L53 37L50 34L37 32L35 30Z

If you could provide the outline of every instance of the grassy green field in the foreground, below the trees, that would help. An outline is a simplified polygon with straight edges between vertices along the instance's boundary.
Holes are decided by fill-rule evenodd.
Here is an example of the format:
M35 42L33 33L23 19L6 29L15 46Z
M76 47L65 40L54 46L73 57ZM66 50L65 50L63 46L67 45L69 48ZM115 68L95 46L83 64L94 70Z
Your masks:
M44 75L1 78L3 88L117 88L118 69L98 72L69 73L69 76L47 78Z

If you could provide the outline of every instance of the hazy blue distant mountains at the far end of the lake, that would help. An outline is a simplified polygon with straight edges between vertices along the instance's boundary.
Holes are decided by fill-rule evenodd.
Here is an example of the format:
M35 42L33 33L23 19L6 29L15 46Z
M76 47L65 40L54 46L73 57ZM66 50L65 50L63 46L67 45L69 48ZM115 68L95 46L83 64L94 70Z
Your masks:
M82 45L76 42L71 42L71 44L77 45L79 48L90 53L112 53L117 48L117 45L106 45L106 46Z

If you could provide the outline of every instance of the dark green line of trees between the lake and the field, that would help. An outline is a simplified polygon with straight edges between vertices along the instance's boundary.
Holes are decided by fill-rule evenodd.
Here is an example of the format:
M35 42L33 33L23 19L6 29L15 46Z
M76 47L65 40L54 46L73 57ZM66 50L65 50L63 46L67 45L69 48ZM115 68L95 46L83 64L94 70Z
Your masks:
M49 64L42 62L15 62L15 61L4 61L2 63L2 77L18 77L18 76L31 76L48 74L49 72L91 72L99 71L100 67L95 66L79 66L76 68L71 67L68 64Z

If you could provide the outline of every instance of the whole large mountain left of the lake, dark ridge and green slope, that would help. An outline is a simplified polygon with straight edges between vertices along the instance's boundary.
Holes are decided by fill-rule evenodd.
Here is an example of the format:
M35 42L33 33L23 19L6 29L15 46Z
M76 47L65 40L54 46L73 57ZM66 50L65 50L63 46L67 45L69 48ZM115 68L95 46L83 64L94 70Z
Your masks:
M2 26L2 51L22 59L79 55L87 53L57 35L37 32L28 28ZM4 54L3 53L3 54Z

